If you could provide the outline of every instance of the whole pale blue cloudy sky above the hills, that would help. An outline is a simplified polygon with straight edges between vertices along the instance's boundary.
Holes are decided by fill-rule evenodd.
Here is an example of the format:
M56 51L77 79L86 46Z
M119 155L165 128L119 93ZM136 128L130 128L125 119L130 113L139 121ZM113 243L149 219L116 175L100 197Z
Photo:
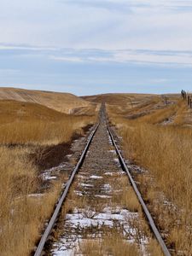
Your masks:
M192 0L0 0L0 86L192 90Z

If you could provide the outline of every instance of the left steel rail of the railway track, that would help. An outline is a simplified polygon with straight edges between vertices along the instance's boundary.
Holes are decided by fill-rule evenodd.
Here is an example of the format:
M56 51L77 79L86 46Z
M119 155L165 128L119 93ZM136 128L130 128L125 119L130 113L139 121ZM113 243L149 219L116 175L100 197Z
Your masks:
M73 172L72 172L71 177L69 178L69 180L67 181L66 186L64 187L64 191L63 191L63 193L62 193L62 195L61 195L61 198L60 198L60 200L58 201L58 203L57 203L57 205L56 205L56 207L55 207L55 212L53 213L52 217L50 218L49 224L48 224L46 230L44 230L44 234L43 234L43 236L41 237L41 240L40 240L39 243L38 243L38 247L37 247L37 249L36 249L36 251L35 251L35 253L34 253L34 256L41 256L41 254L43 253L44 244L45 244L45 242L46 242L47 239L48 239L48 236L49 236L49 234L50 234L50 231L51 231L51 230L53 229L53 227L54 227L55 221L56 221L56 219L57 219L57 217L58 217L58 215L59 215L59 212L60 212L60 210L61 210L63 201L65 201L65 199L66 199L66 197L67 197L68 190L70 189L70 186L71 186L72 183L73 183L73 179L74 179L74 177L75 177L75 174L79 171L80 166L82 166L82 164L83 164L83 162L84 162L84 157L85 157L85 155L86 155L86 153L87 153L87 151L88 151L88 149L89 149L89 147L90 147L90 143L91 143L91 141L92 141L94 135L96 134L96 131L97 131L98 126L99 126L99 124L96 125L96 128L94 129L94 131L92 131L92 132L90 133L90 137L88 138L88 142L86 143L86 146L85 146L85 148L84 148L84 151L83 151L83 153L81 154L81 157L80 157L80 159L79 159L79 162L78 162L78 164L75 166L75 168L74 168L74 170L73 170Z

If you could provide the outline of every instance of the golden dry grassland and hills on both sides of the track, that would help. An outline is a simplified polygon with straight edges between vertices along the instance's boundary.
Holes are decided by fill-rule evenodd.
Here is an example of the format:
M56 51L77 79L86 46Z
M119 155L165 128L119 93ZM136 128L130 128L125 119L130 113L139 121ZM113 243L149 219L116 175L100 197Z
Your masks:
M68 94L1 89L0 98L1 255L32 251L62 181L57 179L38 195L39 173L45 166L59 164L63 156L55 157L58 150L67 154L73 138L84 135L84 127L96 122L101 102L107 102L109 121L122 137L126 158L148 171L135 174L135 179L167 243L176 254L192 253L192 111L180 96L108 94L79 99ZM56 161L49 163L53 158ZM135 201L125 203L136 207ZM103 253L106 245L109 247L108 239L102 245L84 244L82 251L100 247ZM115 249L116 241L119 237L110 250Z

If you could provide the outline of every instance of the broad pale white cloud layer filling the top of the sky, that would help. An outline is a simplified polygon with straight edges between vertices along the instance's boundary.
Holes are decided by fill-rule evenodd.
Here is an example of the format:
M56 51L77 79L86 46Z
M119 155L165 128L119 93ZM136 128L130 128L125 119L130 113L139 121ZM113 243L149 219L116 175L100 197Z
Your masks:
M192 49L192 2L0 0L0 42L82 49Z

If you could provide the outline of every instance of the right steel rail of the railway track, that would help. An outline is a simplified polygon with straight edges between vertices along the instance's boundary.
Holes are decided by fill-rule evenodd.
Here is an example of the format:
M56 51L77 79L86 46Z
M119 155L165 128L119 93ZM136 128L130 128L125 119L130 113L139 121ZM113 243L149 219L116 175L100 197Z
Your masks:
M148 207L146 206L145 202L143 201L141 193L137 189L137 185L136 185L135 181L131 177L131 172L129 171L128 167L125 164L125 160L123 159L122 154L120 153L119 148L117 147L117 144L115 143L113 134L110 131L110 128L108 127L108 125L107 125L107 129L108 129L109 136L111 137L115 151L119 156L120 165L122 166L122 168L127 173L128 177L130 179L131 185L132 185L133 189L135 190L135 193L137 194L138 201L140 202L141 206L143 207L143 212L145 213L145 216L148 219L148 224L149 224L151 230L153 230L153 232L154 232L154 236L156 237L157 241L159 241L159 244L160 244L160 247L161 247L163 253L166 256L171 256L171 253L169 252L168 248L166 247L165 241L163 241L162 237L160 236L159 230L157 229L156 225L154 224L154 219L152 218L150 212L148 211Z

